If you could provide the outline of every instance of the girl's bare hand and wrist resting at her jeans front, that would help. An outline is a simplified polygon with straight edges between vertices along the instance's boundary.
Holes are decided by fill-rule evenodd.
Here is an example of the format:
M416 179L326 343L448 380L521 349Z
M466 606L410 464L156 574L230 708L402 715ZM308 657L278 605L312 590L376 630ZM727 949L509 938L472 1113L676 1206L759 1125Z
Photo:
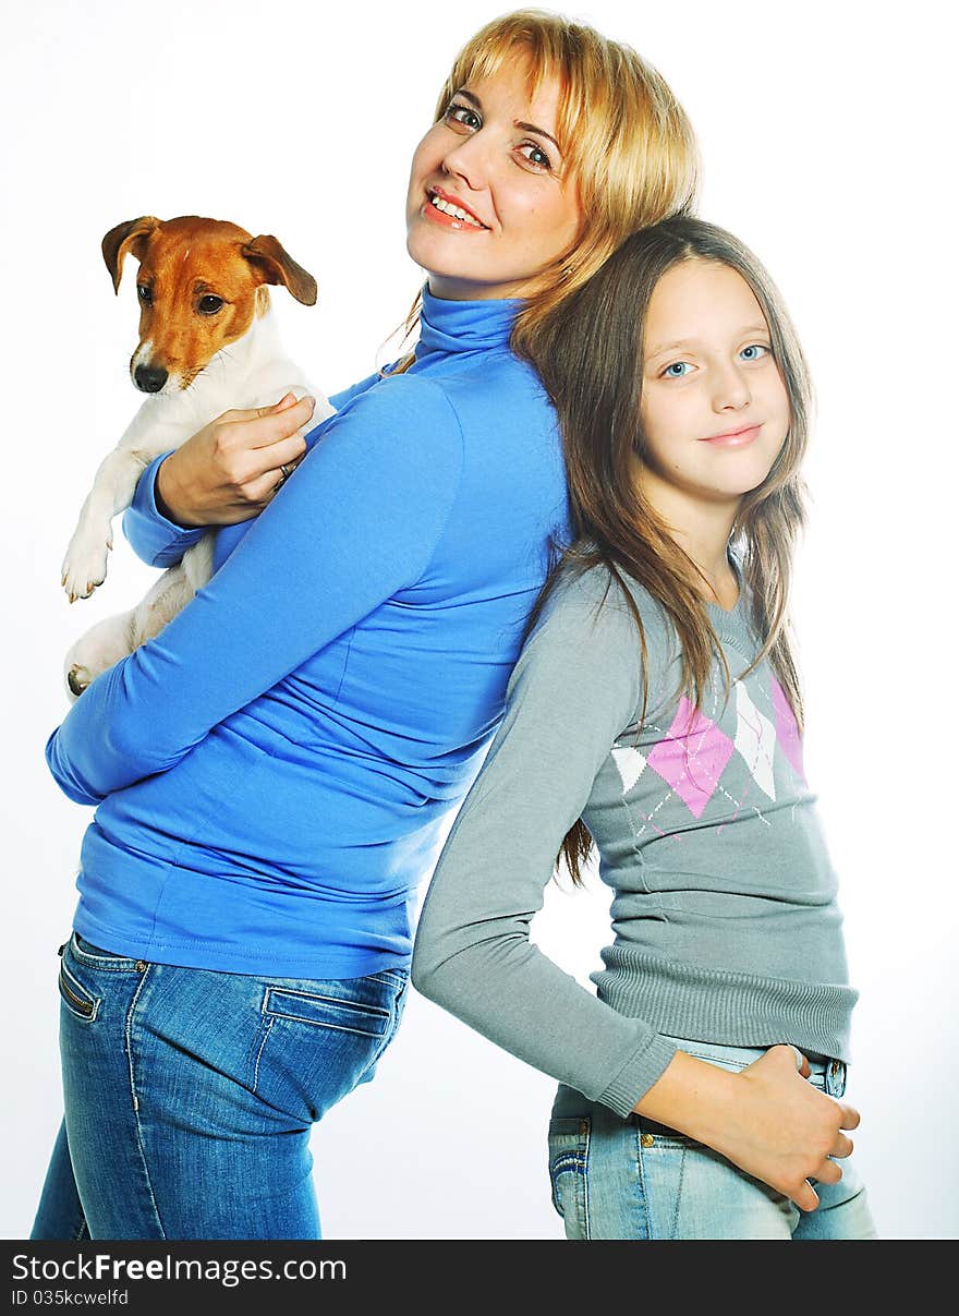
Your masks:
M852 1142L842 1132L859 1112L810 1083L809 1062L796 1069L791 1046L771 1046L738 1074L677 1051L637 1112L705 1142L801 1211L820 1199L810 1179L838 1183Z

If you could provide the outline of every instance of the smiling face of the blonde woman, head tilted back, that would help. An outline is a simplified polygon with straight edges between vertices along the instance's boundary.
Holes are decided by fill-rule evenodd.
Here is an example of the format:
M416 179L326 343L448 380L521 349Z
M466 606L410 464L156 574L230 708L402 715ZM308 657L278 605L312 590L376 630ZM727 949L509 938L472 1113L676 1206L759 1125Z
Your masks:
M581 211L559 151L559 84L530 100L520 58L462 87L413 155L406 250L434 296L521 297L576 243Z

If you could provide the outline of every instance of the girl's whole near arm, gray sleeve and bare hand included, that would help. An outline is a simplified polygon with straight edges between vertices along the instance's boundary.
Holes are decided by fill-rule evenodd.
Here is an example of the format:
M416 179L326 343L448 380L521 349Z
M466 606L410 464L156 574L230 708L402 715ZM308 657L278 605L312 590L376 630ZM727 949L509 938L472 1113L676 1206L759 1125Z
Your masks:
M639 704L635 626L613 599L595 625L592 605L563 599L524 647L424 903L413 984L591 1100L688 1133L812 1209L806 1178L839 1178L825 1158L848 1154L839 1128L858 1115L806 1083L792 1049L729 1074L617 1013L529 940L560 841Z

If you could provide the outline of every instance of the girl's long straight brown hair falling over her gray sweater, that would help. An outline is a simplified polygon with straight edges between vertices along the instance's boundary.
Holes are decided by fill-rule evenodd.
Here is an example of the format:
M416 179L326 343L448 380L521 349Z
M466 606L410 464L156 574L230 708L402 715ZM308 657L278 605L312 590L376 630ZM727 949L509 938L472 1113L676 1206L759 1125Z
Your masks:
M563 436L574 542L556 546L554 565L530 615L526 634L567 572L605 563L622 590L639 633L646 711L646 638L624 582L631 576L659 601L681 649L680 692L699 708L714 657L722 649L704 603L705 576L645 500L635 479L645 436L642 401L643 330L659 279L681 261L716 261L735 270L752 290L770 329L772 354L789 399L789 432L772 470L747 494L731 542L743 563L751 621L802 725L799 674L789 642L788 597L792 555L805 520L800 475L806 450L812 386L802 350L783 299L755 255L725 229L688 216L635 233L599 274L541 321L522 354L538 371L556 407ZM729 670L725 671L729 688ZM592 850L580 820L560 854L574 882Z

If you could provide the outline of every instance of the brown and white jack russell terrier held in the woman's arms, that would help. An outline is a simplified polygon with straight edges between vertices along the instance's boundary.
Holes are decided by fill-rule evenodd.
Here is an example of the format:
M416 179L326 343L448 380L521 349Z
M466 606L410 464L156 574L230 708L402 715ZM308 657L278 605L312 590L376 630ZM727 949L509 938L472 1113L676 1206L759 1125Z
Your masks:
M120 290L124 257L139 262L139 345L130 376L147 399L96 472L63 562L72 603L88 599L107 576L112 521L133 501L142 471L230 408L272 407L285 393L316 397L312 425L334 408L283 353L267 284L283 284L304 305L316 280L275 237L251 237L235 224L184 215L147 215L118 224L103 255ZM283 466L278 487L291 474ZM208 530L170 567L135 608L87 630L64 661L68 697L157 636L213 574L216 530Z

